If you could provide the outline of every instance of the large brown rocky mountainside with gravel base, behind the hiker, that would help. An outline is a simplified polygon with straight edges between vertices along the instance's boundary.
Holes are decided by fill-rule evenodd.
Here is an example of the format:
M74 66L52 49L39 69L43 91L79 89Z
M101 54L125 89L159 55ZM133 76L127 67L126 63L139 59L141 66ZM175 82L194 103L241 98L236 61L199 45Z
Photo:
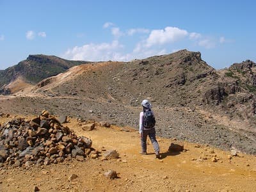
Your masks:
M0 110L109 120L138 128L149 99L157 134L256 154L255 63L215 70L186 50L130 62L89 63L1 99Z

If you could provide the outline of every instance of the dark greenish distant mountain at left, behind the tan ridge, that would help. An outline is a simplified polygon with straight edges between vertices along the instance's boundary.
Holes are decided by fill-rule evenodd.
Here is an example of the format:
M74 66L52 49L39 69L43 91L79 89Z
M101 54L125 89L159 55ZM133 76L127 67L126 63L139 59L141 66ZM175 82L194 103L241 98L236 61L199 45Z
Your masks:
M56 76L65 72L68 68L88 63L86 61L68 61L56 56L46 56L42 54L29 55L24 61L20 61L13 67L0 71L0 93L10 94L8 84L17 79L22 79L25 83L35 84L43 79Z

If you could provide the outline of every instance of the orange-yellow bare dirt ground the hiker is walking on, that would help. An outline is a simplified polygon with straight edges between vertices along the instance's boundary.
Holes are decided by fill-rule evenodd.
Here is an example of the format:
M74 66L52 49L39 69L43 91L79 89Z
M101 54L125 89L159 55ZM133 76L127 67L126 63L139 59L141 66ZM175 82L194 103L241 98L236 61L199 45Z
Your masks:
M0 118L0 122L6 121ZM67 161L49 166L0 170L0 191L255 191L256 157L239 154L228 159L229 152L193 143L184 143L186 152L168 152L170 139L157 138L162 159L155 159L148 144L148 155L141 156L139 134L129 127L96 126L83 131L77 121L67 123L77 135L92 138L93 148L115 149L120 159L100 161ZM216 157L217 162L212 162ZM115 170L118 179L103 173ZM68 177L76 173L72 182Z

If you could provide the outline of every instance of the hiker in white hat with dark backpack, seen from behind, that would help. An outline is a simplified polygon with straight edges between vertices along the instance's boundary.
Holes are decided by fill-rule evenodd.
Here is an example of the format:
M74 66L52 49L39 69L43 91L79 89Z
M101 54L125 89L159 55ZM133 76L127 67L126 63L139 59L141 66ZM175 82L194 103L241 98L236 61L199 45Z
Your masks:
M151 109L151 104L148 100L141 102L143 111L140 112L140 140L141 140L141 152L140 154L147 155L147 136L150 138L151 143L154 147L156 158L160 158L160 149L156 140L156 129L155 129L155 116Z

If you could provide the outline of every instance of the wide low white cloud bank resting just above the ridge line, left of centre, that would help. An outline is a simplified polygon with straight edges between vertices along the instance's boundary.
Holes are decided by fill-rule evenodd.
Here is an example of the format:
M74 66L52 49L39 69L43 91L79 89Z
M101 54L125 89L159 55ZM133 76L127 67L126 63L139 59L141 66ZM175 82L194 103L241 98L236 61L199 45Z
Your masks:
M84 60L84 61L108 61L108 60L124 60L124 56L118 53L122 48L117 40L111 44L86 44L82 47L73 47L68 49L63 55L63 58L70 60Z

